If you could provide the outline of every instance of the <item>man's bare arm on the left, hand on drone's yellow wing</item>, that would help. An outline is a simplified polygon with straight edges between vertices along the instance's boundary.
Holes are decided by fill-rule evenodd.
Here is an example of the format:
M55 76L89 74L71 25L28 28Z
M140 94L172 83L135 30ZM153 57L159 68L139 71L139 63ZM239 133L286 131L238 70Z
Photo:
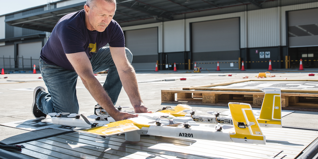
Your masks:
M86 89L91 93L93 98L115 121L127 118L137 117L138 115L119 112L113 105L100 82L94 77L93 68L85 52L66 54L67 59L71 62L76 73L82 79Z

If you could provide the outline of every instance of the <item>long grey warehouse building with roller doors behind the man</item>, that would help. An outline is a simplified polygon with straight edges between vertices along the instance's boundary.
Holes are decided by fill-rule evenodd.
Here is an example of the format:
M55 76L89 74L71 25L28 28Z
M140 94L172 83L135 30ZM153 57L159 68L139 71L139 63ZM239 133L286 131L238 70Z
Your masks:
M37 65L58 20L85 2L61 0L0 16L0 66ZM245 68L268 68L269 60L273 68L293 68L300 59L305 68L318 67L317 0L117 0L114 20L136 70L154 70L157 61L161 70L172 63L188 69L189 60L239 69L239 59Z

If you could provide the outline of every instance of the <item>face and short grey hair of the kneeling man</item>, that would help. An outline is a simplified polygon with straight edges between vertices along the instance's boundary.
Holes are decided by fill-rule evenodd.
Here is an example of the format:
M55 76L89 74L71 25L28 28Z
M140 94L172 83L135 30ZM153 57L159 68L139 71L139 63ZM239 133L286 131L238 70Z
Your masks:
M94 6L84 6L86 12L86 27L88 30L105 31L112 21L116 5L105 0L96 0Z

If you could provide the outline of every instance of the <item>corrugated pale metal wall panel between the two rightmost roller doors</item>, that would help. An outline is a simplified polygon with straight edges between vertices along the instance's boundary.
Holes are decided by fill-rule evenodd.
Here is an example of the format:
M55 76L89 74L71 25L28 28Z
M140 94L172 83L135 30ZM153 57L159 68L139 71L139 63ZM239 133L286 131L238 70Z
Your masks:
M248 11L248 47L278 46L278 9Z

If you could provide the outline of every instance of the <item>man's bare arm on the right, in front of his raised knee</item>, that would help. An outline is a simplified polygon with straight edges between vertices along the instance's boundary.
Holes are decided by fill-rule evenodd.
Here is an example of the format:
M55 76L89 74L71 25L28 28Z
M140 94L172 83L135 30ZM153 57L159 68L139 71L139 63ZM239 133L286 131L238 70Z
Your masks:
M138 90L136 74L133 66L130 65L125 47L109 47L114 63L116 65L122 86L124 87L135 113L151 113L143 104Z

